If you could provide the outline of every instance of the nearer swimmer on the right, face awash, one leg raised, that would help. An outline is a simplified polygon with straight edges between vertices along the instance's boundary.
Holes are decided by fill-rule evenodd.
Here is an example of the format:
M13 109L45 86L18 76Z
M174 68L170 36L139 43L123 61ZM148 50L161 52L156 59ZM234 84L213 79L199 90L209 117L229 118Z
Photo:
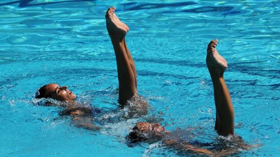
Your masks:
M226 148L222 151L211 151L203 147L190 144L188 141L180 140L174 136L176 132L169 132L159 123L138 122L127 136L132 142L159 141L167 146L180 150L187 150L199 154L224 156L236 153L238 148L251 149L252 146L245 144L241 137L234 135L234 109L230 93L225 84L223 73L227 69L226 60L216 50L218 39L212 40L207 47L206 63L214 86L214 99L216 106L215 130L221 136L232 135L235 148ZM221 146L222 147L222 146Z

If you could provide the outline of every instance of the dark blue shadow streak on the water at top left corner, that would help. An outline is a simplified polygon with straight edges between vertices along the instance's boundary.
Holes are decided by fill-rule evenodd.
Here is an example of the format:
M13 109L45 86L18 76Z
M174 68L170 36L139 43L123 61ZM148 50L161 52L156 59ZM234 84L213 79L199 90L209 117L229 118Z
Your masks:
M17 1L7 2L7 3L0 3L0 6L19 3L19 7L23 8L23 7L29 7L29 6L45 5L45 4L80 2L80 1L95 1L95 0L64 0L64 1L42 2L42 3L37 3L37 4L30 4L30 2L32 2L32 1L34 1L34 0L17 0Z

